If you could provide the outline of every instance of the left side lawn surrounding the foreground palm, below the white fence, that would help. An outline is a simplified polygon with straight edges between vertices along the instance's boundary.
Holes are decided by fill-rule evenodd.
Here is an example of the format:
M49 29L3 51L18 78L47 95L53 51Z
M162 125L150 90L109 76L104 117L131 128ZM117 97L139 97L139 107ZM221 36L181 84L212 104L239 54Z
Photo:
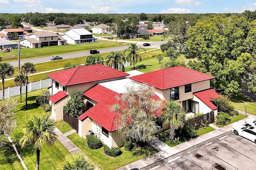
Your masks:
M25 95L23 95L22 103L16 109L16 119L18 122L17 128L14 129L14 133L11 134L12 140L16 142L16 146L20 152L20 156L24 160L28 169L35 169L36 167L36 149L33 146L21 149L18 145L18 139L23 135L22 127L32 117L32 115L43 115L44 111L42 107L36 105L35 99L37 96L42 95L41 90L36 90L28 93L28 110L25 111ZM18 98L18 97L17 97ZM48 113L50 114L50 113ZM15 158L15 154L12 154L13 158L10 161L6 161L4 150L0 152L0 169L12 169L20 170L21 164ZM40 152L40 169L41 170L55 170L57 164L69 154L68 150L64 146L56 141L53 146L43 146ZM5 161L2 161L5 160Z

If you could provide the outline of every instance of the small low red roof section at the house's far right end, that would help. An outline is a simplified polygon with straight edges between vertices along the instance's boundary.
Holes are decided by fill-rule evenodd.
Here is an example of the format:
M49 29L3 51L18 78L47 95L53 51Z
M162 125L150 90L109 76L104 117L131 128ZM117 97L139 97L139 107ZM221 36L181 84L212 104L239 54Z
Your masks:
M213 89L206 89L203 91L194 92L194 95L198 97L204 104L210 107L212 110L218 109L211 101L219 96Z

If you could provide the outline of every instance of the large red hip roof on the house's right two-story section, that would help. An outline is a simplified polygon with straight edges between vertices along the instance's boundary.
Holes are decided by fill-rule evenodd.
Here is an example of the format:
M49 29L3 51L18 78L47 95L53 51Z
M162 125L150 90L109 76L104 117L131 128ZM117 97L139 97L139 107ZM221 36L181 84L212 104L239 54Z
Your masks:
M146 83L147 85L155 88L165 90L190 83L214 79L215 77L186 67L177 66L141 75L135 75L129 78L140 83Z

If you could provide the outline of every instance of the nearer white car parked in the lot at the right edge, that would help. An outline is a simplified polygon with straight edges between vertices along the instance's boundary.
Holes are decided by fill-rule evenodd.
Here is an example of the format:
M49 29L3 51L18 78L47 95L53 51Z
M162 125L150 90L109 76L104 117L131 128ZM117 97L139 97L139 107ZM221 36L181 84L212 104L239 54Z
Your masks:
M256 143L256 128L254 127L236 126L232 127L232 132Z

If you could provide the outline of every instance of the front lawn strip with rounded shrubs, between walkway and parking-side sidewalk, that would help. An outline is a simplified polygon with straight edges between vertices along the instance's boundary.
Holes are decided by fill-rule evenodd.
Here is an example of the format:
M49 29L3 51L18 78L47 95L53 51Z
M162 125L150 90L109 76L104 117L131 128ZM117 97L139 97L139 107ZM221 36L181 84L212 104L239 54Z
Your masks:
M88 148L86 139L78 136L77 133L67 136L78 148L84 152L101 170L115 170L127 164L130 164L136 160L140 160L146 156L158 152L156 149L148 146L146 150L142 148L140 155L132 155L131 152L121 148L122 154L117 157L111 157L104 154L103 147L99 149L92 150Z

